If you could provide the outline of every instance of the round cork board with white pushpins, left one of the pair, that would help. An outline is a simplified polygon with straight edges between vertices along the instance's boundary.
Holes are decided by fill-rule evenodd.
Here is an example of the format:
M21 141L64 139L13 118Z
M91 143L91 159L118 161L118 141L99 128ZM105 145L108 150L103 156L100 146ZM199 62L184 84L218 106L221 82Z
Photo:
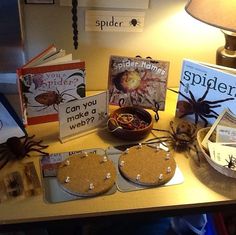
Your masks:
M113 162L105 156L81 153L67 158L57 171L59 185L77 196L96 196L109 191L116 180Z

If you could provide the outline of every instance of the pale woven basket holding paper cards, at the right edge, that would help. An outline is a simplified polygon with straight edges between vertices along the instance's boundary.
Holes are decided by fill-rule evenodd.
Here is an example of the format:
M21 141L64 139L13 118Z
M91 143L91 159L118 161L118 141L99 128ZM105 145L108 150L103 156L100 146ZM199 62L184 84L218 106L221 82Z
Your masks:
M198 131L197 133L197 142L198 142L198 145L204 155L204 157L206 158L207 162L215 169L217 170L218 172L220 172L221 174L223 175L226 175L228 177L232 177L232 178L236 178L236 171L235 170L232 170L228 167L224 167L224 166L221 166L219 164L217 164L216 162L214 162L208 151L206 149L204 149L204 147L202 146L201 142L203 140L203 138L205 137L205 135L207 134L207 132L210 130L209 127L207 128L202 128Z

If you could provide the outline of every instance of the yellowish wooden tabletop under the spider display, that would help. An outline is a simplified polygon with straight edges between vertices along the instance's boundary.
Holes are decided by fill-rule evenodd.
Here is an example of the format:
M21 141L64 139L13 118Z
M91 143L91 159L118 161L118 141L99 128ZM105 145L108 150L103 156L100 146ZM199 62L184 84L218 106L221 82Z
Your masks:
M160 112L160 120L155 127L168 129L174 118L177 96L168 91L166 110ZM29 135L35 134L49 147L47 151L65 152L87 148L107 148L111 145L125 143L113 137L106 129L85 135L62 144L58 140L58 123L47 123L27 127ZM153 137L150 134L147 138ZM0 224L52 221L72 218L91 218L105 215L119 215L144 212L181 212L236 204L236 180L221 175L205 161L199 167L193 159L183 154L175 154L176 162L184 175L184 182L177 185L152 188L146 190L119 192L108 196L99 196L84 200L63 203L48 203L43 194L22 200L8 200L0 204ZM39 158L32 156L39 170ZM3 175L9 171L9 164L1 171Z

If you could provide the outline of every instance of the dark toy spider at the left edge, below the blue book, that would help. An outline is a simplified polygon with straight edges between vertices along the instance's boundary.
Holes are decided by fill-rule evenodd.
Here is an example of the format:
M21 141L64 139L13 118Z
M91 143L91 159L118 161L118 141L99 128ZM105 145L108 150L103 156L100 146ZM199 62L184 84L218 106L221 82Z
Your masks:
M2 169L10 160L20 160L24 157L29 157L29 152L38 152L43 156L48 153L43 152L42 149L48 145L42 145L42 140L34 141L35 136L25 136L22 138L11 137L7 139L4 144L0 145L0 169Z

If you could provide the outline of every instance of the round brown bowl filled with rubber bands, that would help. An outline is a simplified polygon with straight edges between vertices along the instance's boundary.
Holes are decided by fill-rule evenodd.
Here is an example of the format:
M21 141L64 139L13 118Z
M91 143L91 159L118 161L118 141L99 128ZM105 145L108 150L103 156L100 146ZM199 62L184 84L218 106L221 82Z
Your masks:
M124 124L122 121L119 122L117 120L118 117L136 117L139 121L145 122L144 126L141 126L139 128L133 129L128 127L129 120ZM124 124L124 125L123 125ZM130 124L131 125L131 124ZM121 107L115 110L113 113L111 113L107 127L109 131L114 134L115 136L125 139L125 140L141 140L145 138L152 130L153 127L153 120L152 116L149 112L147 112L143 108L139 107ZM133 127L133 126L132 126Z

